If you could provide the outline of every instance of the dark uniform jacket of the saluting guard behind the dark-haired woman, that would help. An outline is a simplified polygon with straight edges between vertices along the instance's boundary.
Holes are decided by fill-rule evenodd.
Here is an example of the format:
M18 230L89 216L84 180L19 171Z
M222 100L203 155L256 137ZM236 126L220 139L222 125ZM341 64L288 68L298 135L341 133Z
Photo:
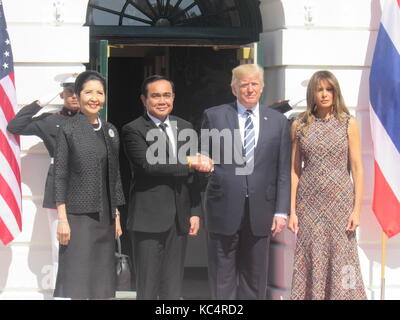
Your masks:
M51 158L54 157L54 150L56 147L56 136L59 126L74 115L74 113L68 114L65 110L61 113L43 113L36 118L32 118L41 107L33 102L30 105L23 107L12 119L7 130L13 134L24 135L24 136L37 136L43 140L47 151ZM44 208L56 208L54 200L54 170L53 164L50 164L47 172L46 185L44 189Z

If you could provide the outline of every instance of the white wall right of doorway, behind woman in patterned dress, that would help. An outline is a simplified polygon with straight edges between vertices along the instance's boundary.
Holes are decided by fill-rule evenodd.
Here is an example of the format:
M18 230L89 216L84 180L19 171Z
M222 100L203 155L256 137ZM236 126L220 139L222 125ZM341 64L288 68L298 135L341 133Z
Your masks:
M310 76L328 69L337 76L346 104L360 124L365 192L359 255L368 298L379 299L381 229L371 210L373 155L368 114L368 77L381 15L379 0L262 0L261 12L267 104L305 98ZM304 107L305 102L299 111ZM400 298L399 239L388 241L387 299ZM270 289L274 299L290 296L293 251L294 237L289 231L273 243Z

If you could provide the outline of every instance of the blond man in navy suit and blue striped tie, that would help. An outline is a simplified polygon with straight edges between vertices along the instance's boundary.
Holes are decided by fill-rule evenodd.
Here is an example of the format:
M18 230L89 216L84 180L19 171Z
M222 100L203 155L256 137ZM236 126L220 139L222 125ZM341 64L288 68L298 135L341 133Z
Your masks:
M262 68L241 65L232 75L237 100L205 110L202 124L202 153L215 161L205 193L211 297L265 299L270 238L290 208L289 125L259 104ZM233 143L215 144L210 129L228 130Z

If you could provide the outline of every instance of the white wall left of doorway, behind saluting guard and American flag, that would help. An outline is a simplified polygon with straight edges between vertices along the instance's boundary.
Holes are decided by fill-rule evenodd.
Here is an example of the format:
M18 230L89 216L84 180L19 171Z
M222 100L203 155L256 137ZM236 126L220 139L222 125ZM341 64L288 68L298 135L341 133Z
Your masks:
M81 72L89 61L89 30L82 26L88 1L61 1L59 25L54 2L3 0L19 108L60 91L55 76ZM46 299L51 248L42 200L49 156L35 137L23 137L21 149L23 231L7 247L0 244L0 299Z

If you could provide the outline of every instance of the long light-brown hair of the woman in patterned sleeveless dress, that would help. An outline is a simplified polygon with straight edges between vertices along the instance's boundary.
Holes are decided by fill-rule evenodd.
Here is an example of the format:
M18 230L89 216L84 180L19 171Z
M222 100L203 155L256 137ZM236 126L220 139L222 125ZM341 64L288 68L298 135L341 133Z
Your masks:
M317 114L317 106L315 103L315 93L317 91L318 85L321 81L327 81L333 88L333 104L332 113L333 116L340 122L350 115L349 110L344 103L342 92L340 90L339 82L332 72L327 70L321 70L315 72L307 85L307 109L305 112L300 114L300 130L304 134L308 126L314 121Z

